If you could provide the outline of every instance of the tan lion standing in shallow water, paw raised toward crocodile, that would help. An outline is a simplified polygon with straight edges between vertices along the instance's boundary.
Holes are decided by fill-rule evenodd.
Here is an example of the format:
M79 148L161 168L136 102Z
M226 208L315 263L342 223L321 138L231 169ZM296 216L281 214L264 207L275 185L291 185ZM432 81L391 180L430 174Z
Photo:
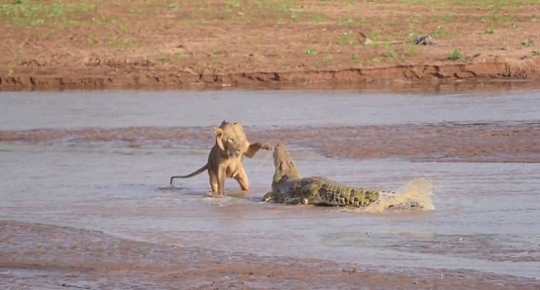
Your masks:
M249 189L249 180L242 165L243 156L251 158L260 149L272 150L272 145L266 142L249 143L240 123L229 123L223 120L219 127L214 128L214 131L216 144L210 150L208 162L188 175L171 176L171 185L175 178L189 178L208 170L213 195L225 194L226 177L236 179L242 190Z

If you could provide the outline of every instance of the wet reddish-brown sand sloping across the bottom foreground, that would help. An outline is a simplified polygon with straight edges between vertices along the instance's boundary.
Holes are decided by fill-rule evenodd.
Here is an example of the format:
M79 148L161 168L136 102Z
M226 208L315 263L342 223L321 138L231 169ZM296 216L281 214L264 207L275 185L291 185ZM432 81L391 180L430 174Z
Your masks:
M540 289L474 271L362 269L136 242L68 227L0 222L4 289Z

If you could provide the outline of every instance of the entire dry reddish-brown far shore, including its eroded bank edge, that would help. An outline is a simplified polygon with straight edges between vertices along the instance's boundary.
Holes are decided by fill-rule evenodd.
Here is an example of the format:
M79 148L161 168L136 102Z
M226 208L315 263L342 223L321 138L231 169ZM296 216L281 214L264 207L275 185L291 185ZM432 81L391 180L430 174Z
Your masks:
M539 31L533 0L0 0L0 89L535 79Z

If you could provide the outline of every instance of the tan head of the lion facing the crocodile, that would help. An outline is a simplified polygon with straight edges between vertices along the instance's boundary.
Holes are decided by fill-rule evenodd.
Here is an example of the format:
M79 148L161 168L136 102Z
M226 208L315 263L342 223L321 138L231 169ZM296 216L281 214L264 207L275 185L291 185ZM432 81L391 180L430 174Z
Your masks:
M223 121L215 128L216 143L230 158L241 156L249 147L249 142L240 123Z

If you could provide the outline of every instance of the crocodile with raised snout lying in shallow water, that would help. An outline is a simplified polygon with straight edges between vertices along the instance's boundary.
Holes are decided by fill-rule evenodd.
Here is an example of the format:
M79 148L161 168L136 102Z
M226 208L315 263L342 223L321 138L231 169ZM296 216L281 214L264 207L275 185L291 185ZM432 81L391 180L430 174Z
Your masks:
M366 189L338 183L322 176L302 177L285 144L274 147L274 176L272 190L263 202L305 204L319 206L367 207L382 197L394 195L394 191ZM412 208L418 204L388 205L388 208Z

